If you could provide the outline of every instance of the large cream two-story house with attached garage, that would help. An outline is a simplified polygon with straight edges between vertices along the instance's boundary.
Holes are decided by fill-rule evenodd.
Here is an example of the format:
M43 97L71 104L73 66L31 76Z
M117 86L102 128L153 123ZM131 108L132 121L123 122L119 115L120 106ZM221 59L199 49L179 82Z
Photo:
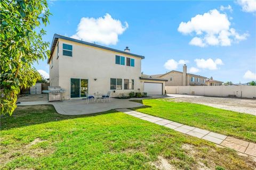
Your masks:
M165 80L141 77L144 56L55 34L52 40L50 86L65 89L62 99L85 97L85 92L111 96L129 92L164 94Z

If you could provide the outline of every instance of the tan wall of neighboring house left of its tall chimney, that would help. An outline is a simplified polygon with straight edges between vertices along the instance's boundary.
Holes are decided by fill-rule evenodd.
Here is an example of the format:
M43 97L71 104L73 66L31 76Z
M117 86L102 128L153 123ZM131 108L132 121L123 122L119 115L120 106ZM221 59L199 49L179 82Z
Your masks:
M166 86L182 86L182 73L180 72L170 72L161 76L162 79L168 80L165 84ZM172 81L170 80L172 78Z

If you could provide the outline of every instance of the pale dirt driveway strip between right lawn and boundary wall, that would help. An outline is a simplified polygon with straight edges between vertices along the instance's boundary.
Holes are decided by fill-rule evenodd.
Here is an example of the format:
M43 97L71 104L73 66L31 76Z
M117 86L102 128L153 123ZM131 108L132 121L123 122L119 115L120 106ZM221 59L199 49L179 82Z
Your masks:
M222 108L229 111L241 112L256 115L256 100L224 98L224 97L206 97L193 95L168 94L169 97L175 97L175 101L184 101L189 103L197 103L216 108Z

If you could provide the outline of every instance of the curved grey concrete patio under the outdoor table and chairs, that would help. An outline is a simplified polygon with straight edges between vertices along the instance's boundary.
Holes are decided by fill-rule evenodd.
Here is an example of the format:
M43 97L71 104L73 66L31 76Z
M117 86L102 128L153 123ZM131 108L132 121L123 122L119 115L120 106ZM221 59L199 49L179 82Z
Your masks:
M154 96L148 97L150 98L170 98L169 96ZM84 99L71 99L71 100L62 100L62 101L29 101L29 102L21 102L17 104L18 106L28 106L28 105L53 105L56 111L62 115L83 115L83 114L92 114L99 112L106 112L111 109L118 108L132 108L132 107L141 107L143 106L140 103L136 103L133 99L144 99L144 98L131 98L131 99L115 99L111 98L110 102L106 101L106 103L102 103L99 101L98 103L94 103L92 100L89 101L87 105Z

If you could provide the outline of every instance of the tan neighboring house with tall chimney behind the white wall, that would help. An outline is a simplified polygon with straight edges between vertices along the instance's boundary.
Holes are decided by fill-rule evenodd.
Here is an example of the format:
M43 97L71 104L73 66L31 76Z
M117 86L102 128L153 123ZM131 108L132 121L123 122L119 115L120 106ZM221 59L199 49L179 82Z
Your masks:
M187 65L183 65L183 72L172 70L165 74L150 75L152 78L166 79L165 86L205 86L205 79L201 75L187 73Z

